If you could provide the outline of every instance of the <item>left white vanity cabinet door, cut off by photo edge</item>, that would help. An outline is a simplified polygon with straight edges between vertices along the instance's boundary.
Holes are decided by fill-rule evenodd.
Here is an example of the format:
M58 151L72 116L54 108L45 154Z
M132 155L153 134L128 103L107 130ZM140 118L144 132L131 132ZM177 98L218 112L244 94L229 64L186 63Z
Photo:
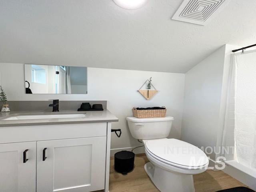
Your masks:
M0 144L0 192L36 192L36 142Z

